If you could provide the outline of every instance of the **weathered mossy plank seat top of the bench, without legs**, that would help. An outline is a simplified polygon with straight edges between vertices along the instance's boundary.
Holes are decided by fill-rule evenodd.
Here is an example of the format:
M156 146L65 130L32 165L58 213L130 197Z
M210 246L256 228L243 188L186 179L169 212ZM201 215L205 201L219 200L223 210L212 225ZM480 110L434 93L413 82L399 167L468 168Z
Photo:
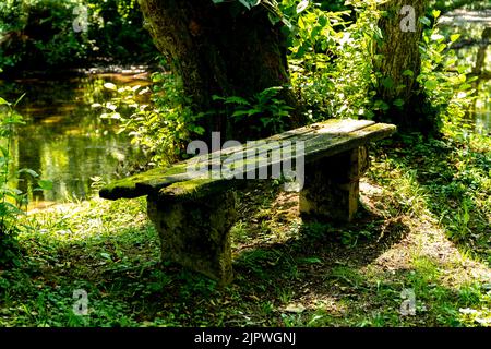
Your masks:
M316 161L320 158L331 157L339 153L347 152L364 144L383 139L394 133L396 128L385 123L374 123L368 120L327 120L326 122L300 128L297 130L290 130L282 134L277 134L270 139L263 140L265 142L276 141L291 141L291 142L304 142L304 155L306 163ZM280 145L275 145L274 149L280 148ZM100 197L116 200L120 197L132 198L136 196L148 195L149 193L156 193L164 188L170 186L161 194L169 194L170 196L179 195L196 195L197 189L206 189L212 182L217 182L217 185L226 185L220 182L225 182L226 178L220 176L211 176L209 172L197 174L201 178L196 178L196 173L188 172L190 166L208 166L223 168L226 160L236 155L248 155L249 152L256 152L256 156L262 157L267 154L268 145L264 143L247 144L244 146L236 146L233 148L226 148L218 153L200 155L189 160L178 163L166 168L153 169L143 173L139 173L125 179L115 181L106 185L100 191ZM291 160L295 160L291 155ZM283 158L282 161L289 160ZM254 158L252 163L255 164ZM251 166L251 160L246 158L239 158L233 164L229 164L230 167L238 166L239 169L243 169L242 177L253 178L259 168L264 165ZM267 167L273 164L267 163ZM213 179L209 179L213 178ZM177 184L181 182L181 184ZM189 182L189 183L188 183ZM204 185L206 184L206 185ZM200 189L201 190L201 189Z

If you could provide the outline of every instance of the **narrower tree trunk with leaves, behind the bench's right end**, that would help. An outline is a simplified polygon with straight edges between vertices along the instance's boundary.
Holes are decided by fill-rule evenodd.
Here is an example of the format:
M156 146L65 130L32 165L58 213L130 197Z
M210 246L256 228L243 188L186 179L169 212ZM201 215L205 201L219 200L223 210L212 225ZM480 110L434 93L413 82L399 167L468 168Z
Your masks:
M383 38L375 48L374 67L379 74L375 91L376 98L387 108L376 118L402 129L434 133L438 125L431 105L416 81L421 71L419 19L424 15L426 4L426 0L390 0L381 8L384 15L379 27ZM411 8L404 11L405 5Z

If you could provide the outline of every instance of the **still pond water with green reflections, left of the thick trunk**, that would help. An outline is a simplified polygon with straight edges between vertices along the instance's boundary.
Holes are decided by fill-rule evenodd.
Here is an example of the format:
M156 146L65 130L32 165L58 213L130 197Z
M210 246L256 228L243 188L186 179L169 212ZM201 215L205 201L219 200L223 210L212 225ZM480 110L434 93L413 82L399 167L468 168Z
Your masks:
M53 184L52 190L38 192L27 177L11 182L29 193L29 207L86 198L94 193L94 178L108 182L137 163L142 154L124 134L118 134L118 122L100 119L100 109L91 107L111 98L104 88L107 82L151 84L148 74L139 70L0 81L0 96L5 99L26 94L16 107L26 124L15 130L11 169L29 168Z

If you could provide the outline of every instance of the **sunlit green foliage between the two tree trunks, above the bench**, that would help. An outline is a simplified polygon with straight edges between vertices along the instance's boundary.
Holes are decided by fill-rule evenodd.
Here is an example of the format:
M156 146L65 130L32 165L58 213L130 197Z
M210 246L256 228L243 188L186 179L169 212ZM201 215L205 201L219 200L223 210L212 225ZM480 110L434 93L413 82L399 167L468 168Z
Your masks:
M318 2L284 0L294 24L291 82L312 121L373 115L371 47L381 34L376 1L350 1L350 9L326 11ZM375 106L376 107L376 106Z

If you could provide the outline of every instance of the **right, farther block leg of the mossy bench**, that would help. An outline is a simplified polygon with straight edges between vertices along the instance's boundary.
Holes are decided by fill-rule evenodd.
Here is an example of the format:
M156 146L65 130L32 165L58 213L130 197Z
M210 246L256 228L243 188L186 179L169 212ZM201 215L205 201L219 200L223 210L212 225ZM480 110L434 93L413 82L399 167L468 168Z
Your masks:
M369 167L367 147L306 165L300 214L326 220L350 221L358 208L359 179Z

